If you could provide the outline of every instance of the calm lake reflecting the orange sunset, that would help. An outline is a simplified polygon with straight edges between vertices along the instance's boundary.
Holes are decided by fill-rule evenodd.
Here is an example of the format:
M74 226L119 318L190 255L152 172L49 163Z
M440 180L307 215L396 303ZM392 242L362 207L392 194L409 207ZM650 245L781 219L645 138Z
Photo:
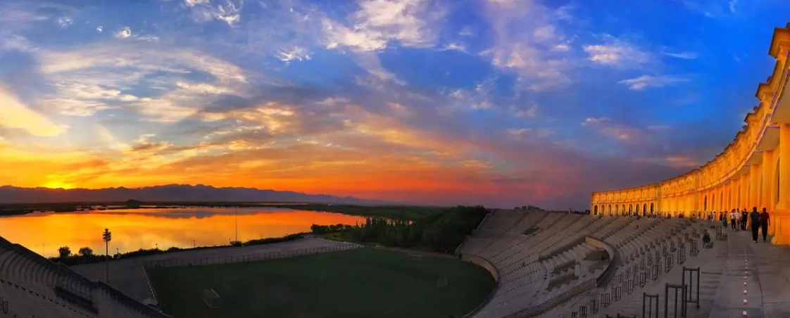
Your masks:
M80 212L39 212L0 217L0 236L43 256L72 253L88 246L104 253L102 233L112 232L110 254L172 246L228 245L235 240L234 208L168 208ZM239 208L239 241L280 238L309 232L310 225L364 223L365 218L339 213L287 208Z

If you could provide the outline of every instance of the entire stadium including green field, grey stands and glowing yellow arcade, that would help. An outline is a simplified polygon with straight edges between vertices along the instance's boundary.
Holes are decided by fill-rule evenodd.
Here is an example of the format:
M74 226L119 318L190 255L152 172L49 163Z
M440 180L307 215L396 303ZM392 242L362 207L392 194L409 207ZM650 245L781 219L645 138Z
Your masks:
M788 83L790 24L776 32L777 71L760 89L774 90L771 114L785 119L768 127L773 133L736 137L762 138L747 143L754 152L738 149L743 162L728 162L734 172L722 180L743 187L716 183L713 172L730 170L715 166L684 177L695 183L654 185L666 191L656 197L646 189L592 193L584 213L493 209L448 254L310 235L69 267L0 238L0 317L788 317L790 165L766 173L781 176L765 178L777 185L764 188L767 199L757 178L762 154L790 155L790 104L779 93ZM747 124L761 124L754 116ZM739 194L713 200L719 186ZM768 205L777 211L774 244L752 243L745 230L707 217L777 201Z

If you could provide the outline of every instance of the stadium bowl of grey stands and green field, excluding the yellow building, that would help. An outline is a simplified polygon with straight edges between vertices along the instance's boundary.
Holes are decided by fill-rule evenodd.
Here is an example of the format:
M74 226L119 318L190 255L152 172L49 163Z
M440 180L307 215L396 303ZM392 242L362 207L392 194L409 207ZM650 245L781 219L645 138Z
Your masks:
M494 210L456 256L303 238L115 260L108 285L86 278L104 264L72 270L0 240L0 295L31 318L718 317L729 264L769 266L744 241L702 219ZM756 293L748 282L735 288Z

